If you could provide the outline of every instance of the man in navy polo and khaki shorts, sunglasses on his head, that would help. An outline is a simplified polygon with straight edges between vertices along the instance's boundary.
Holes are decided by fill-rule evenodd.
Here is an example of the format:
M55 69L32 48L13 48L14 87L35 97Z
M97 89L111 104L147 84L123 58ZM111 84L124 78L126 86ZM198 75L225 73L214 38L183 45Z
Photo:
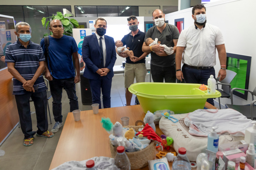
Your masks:
M126 58L126 64L124 68L124 87L126 106L131 105L131 99L133 94L128 91L130 85L134 83L134 78L136 77L136 82L145 82L145 77L147 74L145 57L148 53L142 51L142 45L145 38L145 33L138 29L138 19L136 16L130 16L127 18L128 26L131 32L122 38L123 46L129 47L133 51L135 58L131 60L128 55L124 53L117 54L120 57Z

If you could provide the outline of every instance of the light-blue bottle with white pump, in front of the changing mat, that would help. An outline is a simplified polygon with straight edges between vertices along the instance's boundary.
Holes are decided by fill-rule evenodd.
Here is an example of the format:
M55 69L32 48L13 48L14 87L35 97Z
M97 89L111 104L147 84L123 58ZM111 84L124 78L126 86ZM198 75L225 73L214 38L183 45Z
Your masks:
M219 136L215 131L218 127L212 127L211 132L208 134L207 149L217 153L219 146Z

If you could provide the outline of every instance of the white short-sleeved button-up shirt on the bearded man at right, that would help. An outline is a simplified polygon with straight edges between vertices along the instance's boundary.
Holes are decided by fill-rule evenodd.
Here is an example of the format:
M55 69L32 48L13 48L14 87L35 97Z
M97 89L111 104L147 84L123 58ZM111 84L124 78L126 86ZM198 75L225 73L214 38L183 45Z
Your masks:
M180 33L177 47L185 47L182 63L210 67L216 64L216 45L224 44L220 29L207 24L201 30L191 25Z

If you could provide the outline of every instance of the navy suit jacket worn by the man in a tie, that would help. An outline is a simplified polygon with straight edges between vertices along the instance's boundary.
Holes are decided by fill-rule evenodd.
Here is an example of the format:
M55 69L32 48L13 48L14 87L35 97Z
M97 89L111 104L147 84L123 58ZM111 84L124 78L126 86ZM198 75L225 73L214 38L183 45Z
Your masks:
M96 33L84 37L82 53L85 69L83 76L87 79L98 79L100 75L96 73L101 68L101 54ZM108 79L114 76L113 67L117 59L114 38L104 35L106 45L106 64L105 67L110 71L106 75Z

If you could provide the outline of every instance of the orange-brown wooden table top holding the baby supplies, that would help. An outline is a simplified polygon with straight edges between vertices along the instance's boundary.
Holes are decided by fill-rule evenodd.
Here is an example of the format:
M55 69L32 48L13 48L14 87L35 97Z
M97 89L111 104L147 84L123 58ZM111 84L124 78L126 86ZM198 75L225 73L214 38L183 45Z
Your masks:
M216 109L208 104L206 107ZM82 161L92 157L111 157L109 134L101 126L101 117L108 117L112 123L115 123L121 122L120 118L123 116L130 118L129 125L134 125L137 120L144 119L145 113L140 105L99 109L96 115L92 110L81 111L80 121L74 121L73 114L68 113L50 169L71 160ZM156 133L159 136L163 134L158 125ZM169 152L174 152L174 149L171 147ZM169 165L171 167L172 163ZM143 169L148 169L148 166Z

